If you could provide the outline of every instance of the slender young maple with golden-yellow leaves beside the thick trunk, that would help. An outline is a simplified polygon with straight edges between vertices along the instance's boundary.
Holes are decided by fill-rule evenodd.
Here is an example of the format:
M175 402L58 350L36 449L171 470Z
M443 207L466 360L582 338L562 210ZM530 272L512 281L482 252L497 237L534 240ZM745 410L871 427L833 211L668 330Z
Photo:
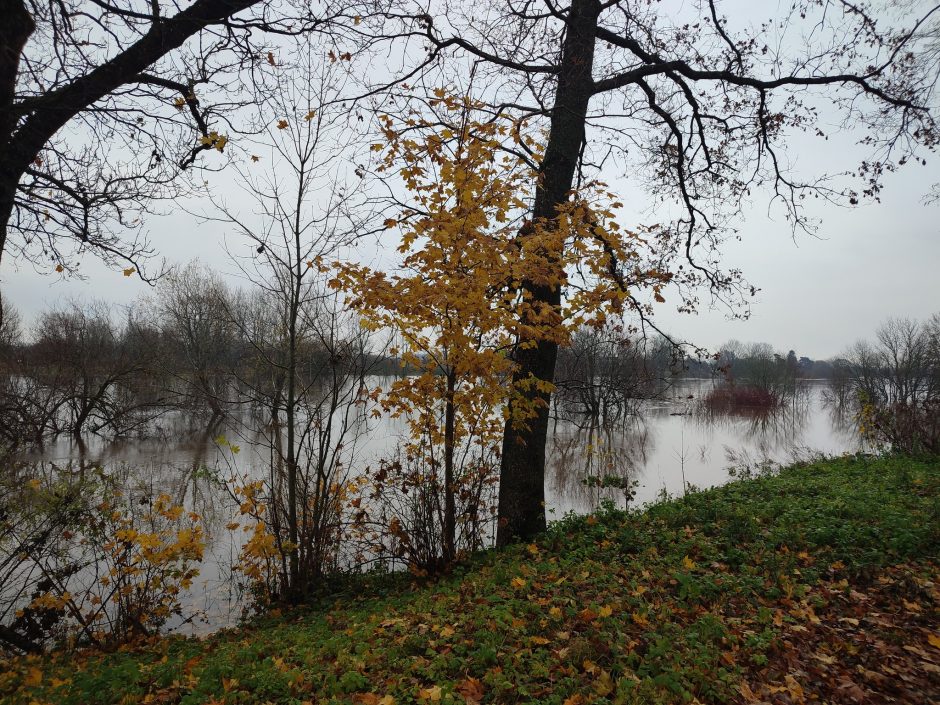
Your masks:
M458 520L468 518L457 516L458 490L489 474L504 424L527 427L552 389L520 375L510 352L566 344L581 326L621 314L631 288L658 294L674 275L648 266L660 233L622 229L619 204L603 184L584 184L550 224L523 222L535 174L512 148L524 144L538 158L535 139L510 121L475 119L482 106L441 89L431 107L433 118L397 124L385 116L387 143L373 145L384 151L380 171L399 177L410 194L401 218L386 221L402 231L402 273L340 263L332 285L370 327L396 331L403 364L418 371L396 380L383 404L407 419L406 451L427 468L419 472L428 473L442 557L450 561ZM438 129L410 136L431 125ZM564 282L563 305L533 300L523 281ZM474 472L458 466L470 449ZM466 510L474 521L478 505L474 496Z

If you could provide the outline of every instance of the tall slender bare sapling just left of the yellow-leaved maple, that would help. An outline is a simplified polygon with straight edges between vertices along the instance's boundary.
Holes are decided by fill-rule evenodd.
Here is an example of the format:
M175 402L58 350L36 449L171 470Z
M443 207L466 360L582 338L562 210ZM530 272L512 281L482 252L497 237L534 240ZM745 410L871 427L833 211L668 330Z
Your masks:
M257 145L270 157L239 172L251 208L225 206L219 216L251 248L235 260L257 293L247 315L232 320L250 351L248 391L270 414L268 523L286 560L279 584L290 600L336 560L340 496L374 359L358 320L326 285L329 259L363 234L371 215L349 163L358 121L336 100L346 80L337 67L310 43L295 56L301 77L258 106L283 117Z

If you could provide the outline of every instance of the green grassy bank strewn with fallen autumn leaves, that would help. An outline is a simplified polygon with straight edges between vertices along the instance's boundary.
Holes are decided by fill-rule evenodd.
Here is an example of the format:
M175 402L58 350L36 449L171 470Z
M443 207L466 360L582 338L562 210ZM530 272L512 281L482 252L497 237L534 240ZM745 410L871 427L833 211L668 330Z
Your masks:
M10 703L931 702L940 461L839 459L554 526L407 594L18 659Z

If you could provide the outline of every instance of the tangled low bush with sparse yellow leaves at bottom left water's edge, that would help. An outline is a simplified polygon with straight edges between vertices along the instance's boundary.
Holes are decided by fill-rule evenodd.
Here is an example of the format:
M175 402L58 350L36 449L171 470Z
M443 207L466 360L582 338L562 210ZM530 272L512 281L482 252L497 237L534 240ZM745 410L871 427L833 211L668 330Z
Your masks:
M0 640L20 651L49 642L110 648L182 616L199 574L199 515L169 495L129 497L95 472L53 472L7 488L0 526Z

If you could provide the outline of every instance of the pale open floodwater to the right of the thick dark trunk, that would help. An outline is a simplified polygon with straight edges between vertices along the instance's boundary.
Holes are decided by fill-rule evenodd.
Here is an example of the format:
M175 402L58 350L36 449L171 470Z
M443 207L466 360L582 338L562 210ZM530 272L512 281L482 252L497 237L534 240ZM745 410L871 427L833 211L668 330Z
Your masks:
M634 502L689 485L711 487L735 465L785 464L812 454L864 450L854 421L826 403L824 382L805 381L786 403L719 413L701 403L711 380L683 380L669 398L645 401L626 422L582 428L560 419L550 440L546 495L555 516L588 512L601 499L622 506L617 491L585 487L588 475L629 477Z

